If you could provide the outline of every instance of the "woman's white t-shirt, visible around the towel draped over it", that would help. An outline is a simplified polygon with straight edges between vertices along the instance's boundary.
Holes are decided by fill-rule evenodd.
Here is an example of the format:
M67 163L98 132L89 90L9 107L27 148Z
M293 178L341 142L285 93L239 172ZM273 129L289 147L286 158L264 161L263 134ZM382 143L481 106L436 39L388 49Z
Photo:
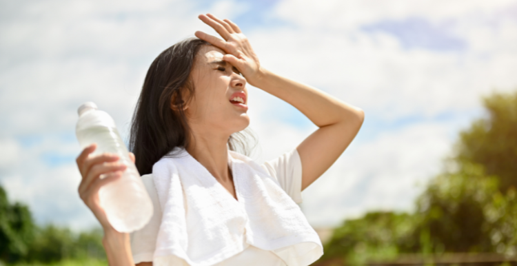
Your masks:
M286 152L274 160L263 163L261 167L263 167L270 176L276 178L282 189L295 203L300 204L302 202L302 165L300 155L296 149L291 152ZM156 187L154 187L152 174L143 175L142 181L151 197L154 213L145 227L130 234L134 263L152 261L156 245L156 236L158 236L162 218L161 205L156 192ZM273 252L250 245L244 249L243 252L216 264L216 266L237 265L284 266L285 263Z

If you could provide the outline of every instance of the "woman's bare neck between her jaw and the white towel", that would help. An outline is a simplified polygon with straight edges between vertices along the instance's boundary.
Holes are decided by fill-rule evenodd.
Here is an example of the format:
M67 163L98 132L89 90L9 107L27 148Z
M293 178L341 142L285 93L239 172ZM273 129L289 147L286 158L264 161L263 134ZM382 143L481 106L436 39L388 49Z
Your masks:
M230 136L217 135L213 132L196 134L192 130L190 145L187 152L199 161L218 181L230 180L228 168L227 141Z

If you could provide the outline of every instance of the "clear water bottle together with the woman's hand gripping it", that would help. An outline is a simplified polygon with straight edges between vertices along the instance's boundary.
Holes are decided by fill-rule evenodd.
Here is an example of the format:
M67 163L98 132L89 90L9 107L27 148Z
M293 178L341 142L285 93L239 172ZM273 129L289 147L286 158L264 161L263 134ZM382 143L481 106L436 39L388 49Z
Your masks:
M84 148L77 158L81 198L104 228L124 233L141 229L152 216L152 202L115 121L92 102L77 112L76 135Z

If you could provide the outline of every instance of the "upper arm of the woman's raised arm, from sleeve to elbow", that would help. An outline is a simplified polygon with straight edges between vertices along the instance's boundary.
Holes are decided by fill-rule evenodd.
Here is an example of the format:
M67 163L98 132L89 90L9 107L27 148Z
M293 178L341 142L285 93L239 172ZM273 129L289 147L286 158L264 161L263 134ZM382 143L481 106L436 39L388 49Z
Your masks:
M341 121L318 128L298 147L302 162L302 190L320 177L341 156L363 124L364 113L355 121Z

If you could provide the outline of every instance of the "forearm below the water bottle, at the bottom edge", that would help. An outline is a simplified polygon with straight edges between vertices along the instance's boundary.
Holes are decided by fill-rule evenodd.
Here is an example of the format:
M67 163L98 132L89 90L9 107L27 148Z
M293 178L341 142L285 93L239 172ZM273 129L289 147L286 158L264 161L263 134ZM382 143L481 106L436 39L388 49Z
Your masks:
M102 244L110 266L134 266L129 234L105 229Z

